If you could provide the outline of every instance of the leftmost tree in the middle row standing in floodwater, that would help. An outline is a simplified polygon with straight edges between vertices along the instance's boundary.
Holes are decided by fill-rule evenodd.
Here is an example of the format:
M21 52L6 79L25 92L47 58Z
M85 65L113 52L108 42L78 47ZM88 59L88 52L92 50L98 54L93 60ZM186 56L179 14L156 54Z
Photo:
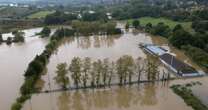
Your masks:
M54 77L55 81L61 85L64 89L67 88L67 85L69 84L69 77L67 76L67 64L66 63L60 63L57 65L57 76Z

